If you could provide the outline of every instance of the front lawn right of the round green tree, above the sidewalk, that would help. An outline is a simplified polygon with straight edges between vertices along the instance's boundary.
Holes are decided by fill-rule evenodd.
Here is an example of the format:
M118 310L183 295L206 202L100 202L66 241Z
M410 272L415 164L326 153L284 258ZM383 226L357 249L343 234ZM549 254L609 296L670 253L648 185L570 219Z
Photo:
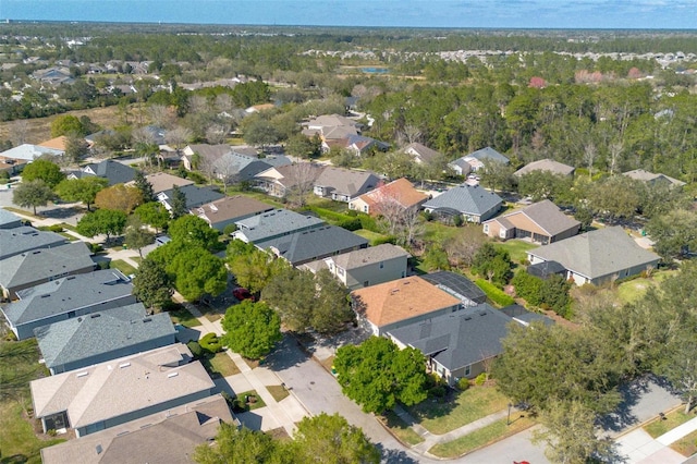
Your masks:
M508 404L509 399L493 387L472 387L456 393L450 402L433 403L429 399L409 407L409 412L428 431L442 435L503 411Z

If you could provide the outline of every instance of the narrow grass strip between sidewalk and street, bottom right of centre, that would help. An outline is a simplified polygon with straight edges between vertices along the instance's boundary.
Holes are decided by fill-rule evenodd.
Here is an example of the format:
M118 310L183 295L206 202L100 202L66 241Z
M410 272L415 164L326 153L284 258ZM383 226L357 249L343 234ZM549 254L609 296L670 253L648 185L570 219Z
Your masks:
M506 425L506 419L497 420L493 424L475 430L464 437L460 437L453 441L439 443L428 450L428 452L439 457L457 457L489 443L493 443L494 441L499 441L504 437L517 434L534 424L534 420L528 417L519 416L513 420L511 425Z

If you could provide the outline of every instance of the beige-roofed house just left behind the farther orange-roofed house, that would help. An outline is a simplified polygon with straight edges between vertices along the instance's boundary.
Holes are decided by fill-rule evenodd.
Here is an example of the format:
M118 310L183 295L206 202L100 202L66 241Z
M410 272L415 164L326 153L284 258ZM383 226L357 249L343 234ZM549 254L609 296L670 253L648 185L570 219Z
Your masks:
M371 172L327 167L315 180L314 192L322 198L348 203L374 190L379 181Z

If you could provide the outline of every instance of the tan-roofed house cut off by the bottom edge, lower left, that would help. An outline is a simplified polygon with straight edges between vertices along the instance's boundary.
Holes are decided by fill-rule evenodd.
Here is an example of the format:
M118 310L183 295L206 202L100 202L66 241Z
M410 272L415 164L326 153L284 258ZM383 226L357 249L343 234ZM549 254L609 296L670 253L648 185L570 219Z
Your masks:
M41 449L44 464L191 464L196 447L210 443L235 418L216 394Z

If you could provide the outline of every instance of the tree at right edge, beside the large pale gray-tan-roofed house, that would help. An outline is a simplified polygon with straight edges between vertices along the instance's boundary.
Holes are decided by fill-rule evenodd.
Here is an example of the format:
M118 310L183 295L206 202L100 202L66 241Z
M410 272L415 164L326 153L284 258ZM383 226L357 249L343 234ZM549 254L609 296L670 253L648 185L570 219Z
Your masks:
M697 212L677 209L657 216L646 224L646 232L656 253L671 262L697 249Z

